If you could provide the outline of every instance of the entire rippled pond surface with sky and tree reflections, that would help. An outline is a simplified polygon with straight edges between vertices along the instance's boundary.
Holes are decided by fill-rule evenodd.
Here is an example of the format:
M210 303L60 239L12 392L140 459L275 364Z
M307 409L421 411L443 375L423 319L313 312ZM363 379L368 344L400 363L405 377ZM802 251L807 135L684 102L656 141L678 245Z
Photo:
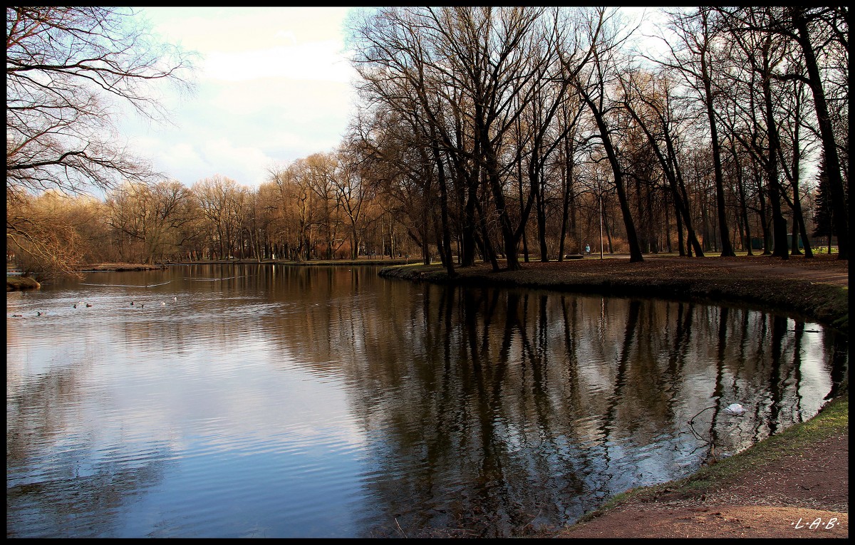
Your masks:
M7 536L523 535L811 418L848 366L756 311L376 273L7 294Z

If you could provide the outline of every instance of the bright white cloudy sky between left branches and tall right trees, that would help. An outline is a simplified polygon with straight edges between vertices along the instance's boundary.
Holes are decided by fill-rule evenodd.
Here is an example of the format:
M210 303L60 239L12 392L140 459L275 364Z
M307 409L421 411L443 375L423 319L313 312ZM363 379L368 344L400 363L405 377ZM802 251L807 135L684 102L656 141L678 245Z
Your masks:
M355 104L348 8L137 8L162 41L195 51L195 92L162 89L170 123L133 114L135 155L185 185L221 174L257 187L271 167L341 142Z

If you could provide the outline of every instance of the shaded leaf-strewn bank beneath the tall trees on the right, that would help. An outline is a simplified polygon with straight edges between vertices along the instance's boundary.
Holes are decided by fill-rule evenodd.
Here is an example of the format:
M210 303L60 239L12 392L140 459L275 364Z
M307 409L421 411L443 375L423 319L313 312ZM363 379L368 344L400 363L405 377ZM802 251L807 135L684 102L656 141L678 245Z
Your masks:
M817 258L813 258L817 259ZM811 319L837 331L849 331L848 266L844 261L779 263L768 256L736 258L646 258L640 263L612 258L529 262L519 271L484 264L456 268L449 278L440 265L384 267L383 278L433 284L555 290L581 295L661 298L738 308L754 308ZM740 263L740 261L742 261ZM798 263L798 264L797 264ZM796 265L795 267L792 267ZM826 267L834 270L827 272ZM801 267L799 267L801 266ZM841 280L840 277L846 278ZM834 283L823 281L833 278Z

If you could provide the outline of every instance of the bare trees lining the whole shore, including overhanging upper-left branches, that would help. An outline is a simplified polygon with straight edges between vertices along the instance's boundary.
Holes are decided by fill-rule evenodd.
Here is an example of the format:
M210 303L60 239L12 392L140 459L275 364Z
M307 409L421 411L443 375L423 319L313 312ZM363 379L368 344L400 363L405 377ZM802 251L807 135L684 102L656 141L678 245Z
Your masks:
M453 274L600 241L810 257L834 236L848 259L848 8L651 13L654 37L616 9L354 11L348 132L249 187L158 177L104 136L105 95L155 117L140 86L192 67L133 13L7 8L9 251L42 273L437 255Z

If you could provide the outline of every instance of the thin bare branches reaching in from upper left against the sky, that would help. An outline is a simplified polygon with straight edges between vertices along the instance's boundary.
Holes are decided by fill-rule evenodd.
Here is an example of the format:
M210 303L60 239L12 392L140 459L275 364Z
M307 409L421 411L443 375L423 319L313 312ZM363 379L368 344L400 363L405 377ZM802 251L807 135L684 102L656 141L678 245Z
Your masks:
M122 179L158 179L119 144L115 115L130 106L151 120L164 118L150 84L189 89L184 73L190 67L189 56L156 42L131 10L7 8L7 191L68 194L107 190ZM20 241L36 233L7 219L12 236Z

